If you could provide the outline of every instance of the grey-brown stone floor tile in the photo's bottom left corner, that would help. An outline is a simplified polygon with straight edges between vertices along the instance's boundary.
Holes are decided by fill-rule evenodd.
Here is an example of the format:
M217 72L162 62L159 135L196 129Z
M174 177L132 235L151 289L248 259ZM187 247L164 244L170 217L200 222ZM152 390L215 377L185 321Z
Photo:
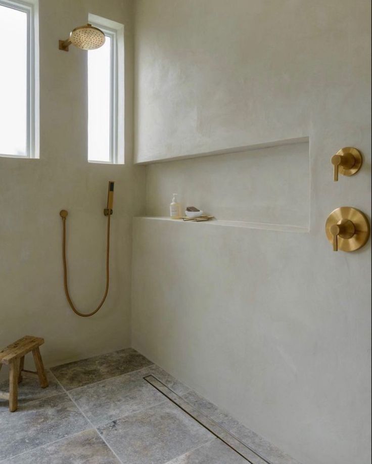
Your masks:
M2 464L120 464L96 430L71 437L2 461Z

